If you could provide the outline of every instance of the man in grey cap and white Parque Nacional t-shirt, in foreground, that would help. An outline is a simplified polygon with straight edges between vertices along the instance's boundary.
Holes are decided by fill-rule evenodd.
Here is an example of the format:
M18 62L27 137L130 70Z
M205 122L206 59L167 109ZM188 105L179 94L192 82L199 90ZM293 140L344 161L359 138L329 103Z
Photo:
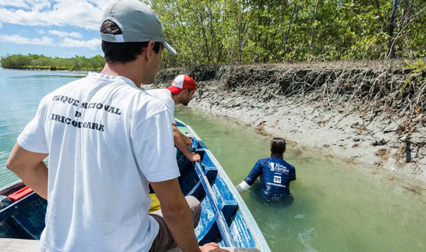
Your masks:
M153 82L163 47L175 53L160 21L145 4L121 0L101 24L102 72L46 95L7 162L47 199L41 250L164 251L177 243L222 251L198 246L200 203L180 191L170 115L140 90ZM162 206L157 215L148 215L148 183Z

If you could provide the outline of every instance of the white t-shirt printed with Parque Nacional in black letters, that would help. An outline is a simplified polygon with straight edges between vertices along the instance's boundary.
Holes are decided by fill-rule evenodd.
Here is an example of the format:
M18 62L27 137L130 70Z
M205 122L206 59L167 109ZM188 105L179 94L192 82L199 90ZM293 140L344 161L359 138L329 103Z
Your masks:
M42 251L148 251L148 181L179 176L164 104L125 77L89 73L46 95L18 138L49 153Z

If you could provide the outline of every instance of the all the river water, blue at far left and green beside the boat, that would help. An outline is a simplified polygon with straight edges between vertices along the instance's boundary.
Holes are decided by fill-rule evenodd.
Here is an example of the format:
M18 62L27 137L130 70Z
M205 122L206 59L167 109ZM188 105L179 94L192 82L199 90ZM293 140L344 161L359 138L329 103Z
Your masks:
M0 68L0 188L18 181L6 161L38 102L79 76ZM191 125L234 184L269 155L270 137L244 125L181 106L175 117ZM296 167L291 206L259 201L258 182L242 195L272 251L426 251L426 191L294 143L284 159Z

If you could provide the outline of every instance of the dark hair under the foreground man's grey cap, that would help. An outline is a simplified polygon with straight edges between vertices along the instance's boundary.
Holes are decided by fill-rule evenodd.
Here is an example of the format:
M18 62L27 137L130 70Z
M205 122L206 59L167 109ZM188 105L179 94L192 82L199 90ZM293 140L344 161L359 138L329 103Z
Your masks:
M100 32L104 34L123 34L117 24L110 20L102 23ZM146 42L107 42L102 40L102 51L105 53L105 61L126 63L135 60L142 53L144 48L148 47L149 41ZM158 53L161 42L155 42L154 52Z

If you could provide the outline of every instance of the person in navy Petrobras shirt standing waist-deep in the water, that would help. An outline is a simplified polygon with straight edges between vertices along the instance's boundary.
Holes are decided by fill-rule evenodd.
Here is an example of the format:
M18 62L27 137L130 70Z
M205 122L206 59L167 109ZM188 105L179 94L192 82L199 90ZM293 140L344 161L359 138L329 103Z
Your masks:
M247 178L239 183L236 188L239 193L249 190L260 176L261 198L272 201L293 201L290 193L290 181L296 179L296 170L293 165L283 159L285 141L282 138L274 138L271 141L271 157L259 159Z

